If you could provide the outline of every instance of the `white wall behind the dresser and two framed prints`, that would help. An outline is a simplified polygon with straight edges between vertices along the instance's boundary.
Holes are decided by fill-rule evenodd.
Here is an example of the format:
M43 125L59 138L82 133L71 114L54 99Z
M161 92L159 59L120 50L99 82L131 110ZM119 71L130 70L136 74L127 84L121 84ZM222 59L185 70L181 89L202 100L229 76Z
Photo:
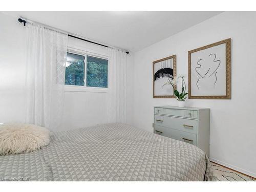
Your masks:
M231 37L231 100L189 99L210 108L210 158L256 176L256 12L224 12L135 53L134 125L153 132L152 61L177 55L177 74L187 74L187 51ZM187 80L187 79L186 79Z

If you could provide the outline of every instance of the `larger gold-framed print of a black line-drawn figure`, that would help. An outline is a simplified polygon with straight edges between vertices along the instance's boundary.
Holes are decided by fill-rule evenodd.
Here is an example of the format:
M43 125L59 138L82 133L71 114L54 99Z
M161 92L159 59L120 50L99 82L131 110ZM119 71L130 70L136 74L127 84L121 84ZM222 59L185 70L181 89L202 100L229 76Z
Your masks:
M188 51L188 98L231 98L231 39Z

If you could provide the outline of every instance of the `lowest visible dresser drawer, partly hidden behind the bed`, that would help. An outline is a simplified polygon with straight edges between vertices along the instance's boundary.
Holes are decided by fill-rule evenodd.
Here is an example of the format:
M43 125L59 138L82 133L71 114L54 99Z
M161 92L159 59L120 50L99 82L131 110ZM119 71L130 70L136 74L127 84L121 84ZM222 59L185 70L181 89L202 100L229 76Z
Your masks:
M197 145L197 134L183 132L174 129L168 129L166 127L155 125L155 133L170 137L172 139L184 141L193 145Z

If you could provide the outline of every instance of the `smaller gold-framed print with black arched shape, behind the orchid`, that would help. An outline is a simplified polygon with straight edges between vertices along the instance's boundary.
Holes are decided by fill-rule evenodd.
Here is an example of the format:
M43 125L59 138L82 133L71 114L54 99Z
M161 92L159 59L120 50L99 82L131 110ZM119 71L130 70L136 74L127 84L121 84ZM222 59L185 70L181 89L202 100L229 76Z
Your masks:
M175 98L172 86L163 86L176 77L176 55L153 62L153 98Z

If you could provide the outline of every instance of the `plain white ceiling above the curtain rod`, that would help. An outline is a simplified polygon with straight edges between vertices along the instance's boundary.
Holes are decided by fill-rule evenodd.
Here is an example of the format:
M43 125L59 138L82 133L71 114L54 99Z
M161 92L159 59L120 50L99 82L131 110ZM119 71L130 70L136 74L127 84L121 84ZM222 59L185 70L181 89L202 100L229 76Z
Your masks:
M13 11L84 38L129 51L139 51L220 14L221 11Z

